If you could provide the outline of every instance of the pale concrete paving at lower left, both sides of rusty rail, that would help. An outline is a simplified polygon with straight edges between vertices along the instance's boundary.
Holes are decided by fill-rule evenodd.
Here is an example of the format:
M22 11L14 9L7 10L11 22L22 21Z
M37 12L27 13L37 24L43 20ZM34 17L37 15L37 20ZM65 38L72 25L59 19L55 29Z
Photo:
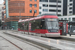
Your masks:
M16 38L6 36L5 34L3 34L2 31L0 31L0 36L5 37L6 39L10 40L11 42L16 44L17 46L21 47L23 50L41 50L35 46L32 46L32 45L27 44L25 42L22 42ZM0 37L0 46L1 46L1 50L20 50L1 37Z

